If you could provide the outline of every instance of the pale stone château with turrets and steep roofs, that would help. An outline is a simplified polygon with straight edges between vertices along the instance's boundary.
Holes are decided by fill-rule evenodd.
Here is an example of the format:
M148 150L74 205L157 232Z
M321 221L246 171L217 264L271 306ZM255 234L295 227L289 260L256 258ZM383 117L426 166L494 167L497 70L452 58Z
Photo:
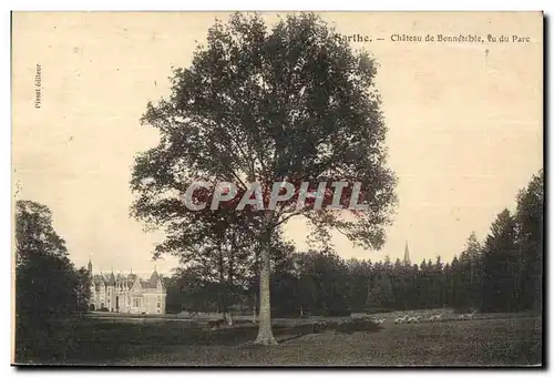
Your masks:
M129 275L92 274L92 262L89 261L91 278L91 310L106 310L132 314L165 314L167 295L162 277L154 269L148 279L142 279L131 273Z

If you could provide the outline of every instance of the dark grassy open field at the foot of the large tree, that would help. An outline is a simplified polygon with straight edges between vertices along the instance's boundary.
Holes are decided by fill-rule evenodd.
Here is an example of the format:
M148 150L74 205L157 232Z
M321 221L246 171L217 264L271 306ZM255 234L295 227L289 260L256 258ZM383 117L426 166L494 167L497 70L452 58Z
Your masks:
M311 325L287 322L274 326L275 347L253 345L257 328L247 322L211 332L193 320L88 319L58 325L52 329L58 339L49 342L70 343L55 355L57 364L86 365L505 366L538 365L542 357L542 319L536 316L386 322L359 330L334 325L317 333Z

